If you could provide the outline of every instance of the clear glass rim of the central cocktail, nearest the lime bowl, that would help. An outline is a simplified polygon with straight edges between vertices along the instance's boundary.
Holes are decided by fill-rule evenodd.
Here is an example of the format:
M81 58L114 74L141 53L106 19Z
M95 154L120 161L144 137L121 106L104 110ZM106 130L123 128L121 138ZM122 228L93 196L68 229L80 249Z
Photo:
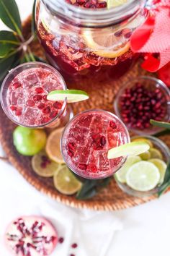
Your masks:
M99 109L99 108L93 108L93 109L88 109L88 110L86 110L86 111L83 111L83 112L81 112L81 113L79 113L79 114L76 114L76 116L73 116L73 118L71 119L71 121L68 121L68 123L66 124L66 127L64 127L64 129L63 129L63 132L62 132L62 135L61 135L61 142L60 142L60 147L61 147L61 154L62 154L62 156L63 156L63 160L65 161L65 163L66 163L66 165L68 166L68 168L70 168L71 169L71 171L73 171L72 170L72 168L71 168L71 166L68 164L68 161L67 161L67 158L65 157L65 155L63 154L63 137L64 137L64 135L65 135L65 132L66 132L66 129L68 129L68 127L69 127L69 125L72 123L72 121L74 121L78 116L80 116L81 114L86 114L86 113L88 113L88 112L95 112L95 111L99 111L99 112L104 112L105 114L109 114L110 116L113 116L115 119L117 119L117 121L119 121L120 122L120 124L122 125L122 127L125 129L125 136L126 136L126 139L127 139L127 142L126 143L129 143L130 142L130 134L129 134L129 132L128 132L128 128L125 126L125 124L123 123L123 121L118 117L118 116L116 116L115 114L113 114L112 112L109 112L109 111L106 111L106 110L104 110L104 109ZM123 164L125 163L125 161L126 161L126 157L124 158L124 160L122 161L122 163L121 163L121 166L117 169L117 171L123 166ZM73 171L74 173L76 173L77 175L79 175L75 170ZM90 177L86 177L86 176L83 176L83 175L81 175L81 177L84 177L84 178L86 178L86 179L105 179L105 178L107 178L107 177L109 177L109 176L112 176L112 174L108 174L108 175L106 175L106 176L102 176L102 177L95 177L95 178L90 178Z

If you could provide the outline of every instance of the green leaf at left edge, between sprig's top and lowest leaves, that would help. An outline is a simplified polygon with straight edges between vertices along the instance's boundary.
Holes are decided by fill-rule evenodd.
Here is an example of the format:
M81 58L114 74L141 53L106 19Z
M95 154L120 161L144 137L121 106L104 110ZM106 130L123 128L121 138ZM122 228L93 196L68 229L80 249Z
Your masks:
M0 31L0 58L4 58L13 51L14 48L19 46L19 41L11 31Z

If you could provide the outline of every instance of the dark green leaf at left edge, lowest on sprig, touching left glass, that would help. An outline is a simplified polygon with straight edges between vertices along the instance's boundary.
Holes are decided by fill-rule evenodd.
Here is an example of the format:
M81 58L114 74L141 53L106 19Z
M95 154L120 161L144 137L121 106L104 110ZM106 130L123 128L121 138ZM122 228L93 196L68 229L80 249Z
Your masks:
M14 64L15 61L15 55L9 56L9 58L6 59L0 59L0 81L4 79L6 74L9 72L9 70L12 68L12 64Z

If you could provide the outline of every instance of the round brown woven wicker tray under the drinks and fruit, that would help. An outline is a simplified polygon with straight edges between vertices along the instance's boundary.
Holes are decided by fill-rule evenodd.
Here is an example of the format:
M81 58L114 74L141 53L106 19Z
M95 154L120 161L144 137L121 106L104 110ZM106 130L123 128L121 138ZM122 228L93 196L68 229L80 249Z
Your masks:
M31 20L29 17L23 25L24 34L27 36L30 35L30 22ZM37 41L32 43L31 48L32 51L38 56L42 56L43 58L45 57L44 52ZM90 108L102 108L107 111L113 111L112 103L122 83L125 83L126 81L140 74L146 74L146 72L140 69L140 64L136 64L135 67L133 67L133 69L125 75L125 77L122 77L122 79L118 80L117 82L112 82L112 84L102 83L96 85L92 84L91 80L89 83L86 83L90 85L89 87L86 87L84 82L81 84L79 83L79 85L74 83L73 86L68 84L68 88L73 87L75 89L79 88L86 90L86 92L90 95L89 101L73 104L74 114L76 114L78 110L81 112ZM126 195L120 190L119 187L117 187L114 179L112 179L112 182L110 182L107 188L101 189L99 193L90 200L76 200L74 196L61 195L61 193L59 193L53 186L52 178L42 178L37 176L37 174L32 171L31 158L19 155L19 153L17 153L17 150L15 150L12 142L12 132L14 127L15 124L7 119L6 115L0 108L0 140L9 161L14 167L17 168L19 173L22 174L25 179L27 179L27 182L30 182L30 184L32 184L32 186L34 186L40 192L50 195L50 197L53 197L58 202L63 202L66 205L76 208L89 208L93 210L120 210L130 208L135 205L140 205L156 198L155 196L138 198ZM170 137L164 136L161 137L161 139L170 146Z

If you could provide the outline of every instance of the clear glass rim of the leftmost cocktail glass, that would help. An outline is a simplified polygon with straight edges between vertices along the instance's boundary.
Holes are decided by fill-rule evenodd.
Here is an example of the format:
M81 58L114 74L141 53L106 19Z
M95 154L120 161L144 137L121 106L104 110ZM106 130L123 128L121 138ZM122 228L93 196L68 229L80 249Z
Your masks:
M41 65L43 67L48 67L48 69L51 69L53 72L55 72L56 74L58 74L58 76L61 78L62 82L63 82L63 90L66 90L67 89L67 86L66 86L66 82L65 80L63 79L63 76L61 75L60 72L58 72L57 69L55 69L54 67L50 66L50 64L46 64L46 63L43 63L43 62L40 62L40 61L31 61L31 62L25 62L23 64L20 64L18 65L17 67L14 67L14 69L10 69L9 70L9 73L6 74L6 77L4 78L2 84L1 84L1 92L0 92L0 101L1 101L1 107L4 111L4 113L6 114L6 116L11 120L13 121L15 124L19 125L19 126L22 126L22 127L28 127L28 128L42 128L42 127L46 127L48 126L48 124L51 124L53 121L55 121L55 119L58 119L62 116L63 114L63 111L64 109L66 108L66 103L67 103L67 98L65 98L65 100L63 101L63 106L61 108L61 110L58 112L57 116L55 116L55 118L51 119L50 121L48 121L47 123L44 123L44 124L40 124L40 125L24 125L24 124L21 124L19 123L19 121L15 120L15 119L12 119L12 115L9 115L9 111L7 111L7 109L5 108L4 106L4 97L2 96L3 95L3 91L4 91L4 88L5 88L5 85L6 85L6 81L9 79L9 77L13 74L13 72L17 71L17 69L21 68L21 67L27 67L27 69L31 69L33 67L31 66L35 66L35 65ZM30 66L30 67L29 67ZM21 72L23 72L25 69L23 69ZM20 72L19 72L20 73ZM18 73L18 74L19 74ZM9 85L8 85L9 87Z

